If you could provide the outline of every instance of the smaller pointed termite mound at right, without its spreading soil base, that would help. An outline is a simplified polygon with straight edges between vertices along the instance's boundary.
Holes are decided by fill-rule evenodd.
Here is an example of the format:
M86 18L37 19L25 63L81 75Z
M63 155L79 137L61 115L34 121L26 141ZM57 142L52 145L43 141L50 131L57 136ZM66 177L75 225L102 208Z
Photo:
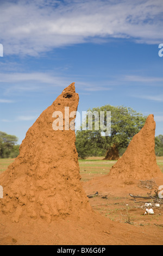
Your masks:
M161 174L155 156L155 121L149 115L145 125L137 133L123 156L110 170L109 176L119 179L148 180Z

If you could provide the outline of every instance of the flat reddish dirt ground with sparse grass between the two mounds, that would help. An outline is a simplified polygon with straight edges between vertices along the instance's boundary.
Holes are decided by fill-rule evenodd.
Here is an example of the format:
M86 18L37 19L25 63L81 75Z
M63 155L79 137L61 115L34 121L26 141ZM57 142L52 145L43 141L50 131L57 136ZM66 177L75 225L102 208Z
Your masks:
M128 223L139 228L142 233L152 232L158 234L163 243L163 204L156 207L153 199L143 199L130 197L130 193L136 196L148 197L148 194L154 196L154 190L159 185L163 185L163 180L156 180L153 183L153 189L143 187L141 182L129 182L128 186L117 186L110 184L108 187L103 186L102 177L109 173L109 170L116 161L101 161L102 157L90 157L86 161L79 161L80 173L82 175L82 182L84 190L87 195L93 195L98 192L98 196L89 198L89 202L96 212L110 220L118 223ZM163 157L156 157L157 163L163 173ZM96 166L94 166L94 164ZM93 180L101 180L98 187L95 186L97 182ZM114 183L114 182L113 182ZM117 184L117 181L116 181ZM148 187L148 186L147 186ZM113 189L114 188L114 189ZM152 206L147 207L145 204L151 203ZM143 215L146 209L152 208L154 215Z

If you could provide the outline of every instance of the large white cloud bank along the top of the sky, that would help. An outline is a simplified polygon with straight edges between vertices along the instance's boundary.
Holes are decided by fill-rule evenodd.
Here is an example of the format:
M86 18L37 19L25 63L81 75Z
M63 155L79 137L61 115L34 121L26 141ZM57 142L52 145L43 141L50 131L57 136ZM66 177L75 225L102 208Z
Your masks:
M160 44L162 10L162 0L4 1L0 17L4 56L36 56L108 37Z

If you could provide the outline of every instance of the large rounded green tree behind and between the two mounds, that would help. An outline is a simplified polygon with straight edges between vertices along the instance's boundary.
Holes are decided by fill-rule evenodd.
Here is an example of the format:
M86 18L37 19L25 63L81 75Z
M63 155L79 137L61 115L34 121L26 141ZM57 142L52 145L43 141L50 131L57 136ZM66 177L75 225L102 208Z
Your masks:
M102 149L108 154L108 152L114 148L114 151L120 150L122 148L127 148L131 138L142 129L145 124L146 117L141 113L137 113L134 109L124 106L111 106L106 105L103 107L89 109L91 112L97 111L110 111L111 112L111 133L109 136L102 136L102 129L99 123L99 130L95 130L96 119L93 117L93 129L92 131L78 131L76 135L76 145L77 151L80 154L83 152L84 156L90 154L91 148ZM88 120L85 121L86 127ZM106 119L104 120L104 125L106 125ZM106 159L109 160L109 157Z

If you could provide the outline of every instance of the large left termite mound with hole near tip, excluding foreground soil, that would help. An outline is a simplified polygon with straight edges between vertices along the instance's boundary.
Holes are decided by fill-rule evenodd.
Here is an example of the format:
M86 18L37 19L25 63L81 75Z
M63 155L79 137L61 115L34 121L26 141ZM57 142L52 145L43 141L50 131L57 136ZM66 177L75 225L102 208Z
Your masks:
M65 107L69 107L70 113L74 111L74 115L78 101L72 83L30 127L21 144L20 155L0 175L4 193L4 198L0 199L0 216L11 216L12 222L26 216L51 222L56 217L77 216L80 210L90 209L80 184L75 132L65 130ZM59 113L64 120L62 130L52 127ZM68 119L68 125L74 118Z

